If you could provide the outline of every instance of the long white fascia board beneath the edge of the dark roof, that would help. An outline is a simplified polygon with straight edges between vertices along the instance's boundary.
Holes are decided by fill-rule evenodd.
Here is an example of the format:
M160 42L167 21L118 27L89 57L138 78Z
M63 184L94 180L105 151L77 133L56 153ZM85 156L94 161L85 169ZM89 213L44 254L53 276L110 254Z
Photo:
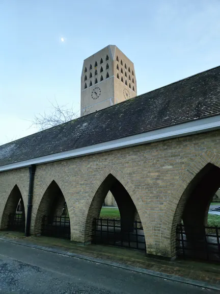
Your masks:
M0 166L0 172L220 129L220 115L143 134Z

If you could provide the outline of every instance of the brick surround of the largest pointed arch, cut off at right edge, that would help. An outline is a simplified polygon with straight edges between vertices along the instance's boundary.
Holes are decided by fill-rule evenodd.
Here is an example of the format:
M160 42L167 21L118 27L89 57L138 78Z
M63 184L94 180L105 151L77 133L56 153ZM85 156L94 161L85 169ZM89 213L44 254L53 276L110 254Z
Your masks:
M169 257L174 257L176 254L176 225L181 219L187 201L187 193L184 192L190 182L208 163L220 168L220 155L207 150L197 157L179 177L170 194L160 231L160 248Z

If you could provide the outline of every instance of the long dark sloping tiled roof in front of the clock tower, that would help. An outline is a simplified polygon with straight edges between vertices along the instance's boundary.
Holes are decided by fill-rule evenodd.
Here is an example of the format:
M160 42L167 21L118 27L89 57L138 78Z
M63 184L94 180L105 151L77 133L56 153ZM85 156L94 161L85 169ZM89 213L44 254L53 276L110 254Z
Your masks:
M220 114L220 66L0 146L0 166Z

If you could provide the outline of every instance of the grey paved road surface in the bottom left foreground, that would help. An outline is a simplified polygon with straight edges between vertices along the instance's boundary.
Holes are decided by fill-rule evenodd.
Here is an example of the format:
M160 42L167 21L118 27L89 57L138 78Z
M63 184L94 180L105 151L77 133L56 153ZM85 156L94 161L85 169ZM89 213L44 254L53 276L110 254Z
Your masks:
M212 294L216 292L0 241L0 293Z

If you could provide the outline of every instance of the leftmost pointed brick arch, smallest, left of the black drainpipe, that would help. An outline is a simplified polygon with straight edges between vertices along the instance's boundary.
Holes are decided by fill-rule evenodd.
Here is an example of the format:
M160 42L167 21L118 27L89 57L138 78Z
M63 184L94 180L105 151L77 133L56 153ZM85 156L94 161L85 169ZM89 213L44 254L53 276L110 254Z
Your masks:
M10 189L10 193L8 195L8 198L3 205L3 213L1 217L1 223L0 223L0 229L5 230L8 227L8 217L9 214L16 212L17 205L19 203L19 200L21 199L21 207L22 207L22 213L23 218L25 219L25 208L24 208L24 201L23 201L23 195L21 193L21 190L19 189L18 185L15 184L13 188Z

